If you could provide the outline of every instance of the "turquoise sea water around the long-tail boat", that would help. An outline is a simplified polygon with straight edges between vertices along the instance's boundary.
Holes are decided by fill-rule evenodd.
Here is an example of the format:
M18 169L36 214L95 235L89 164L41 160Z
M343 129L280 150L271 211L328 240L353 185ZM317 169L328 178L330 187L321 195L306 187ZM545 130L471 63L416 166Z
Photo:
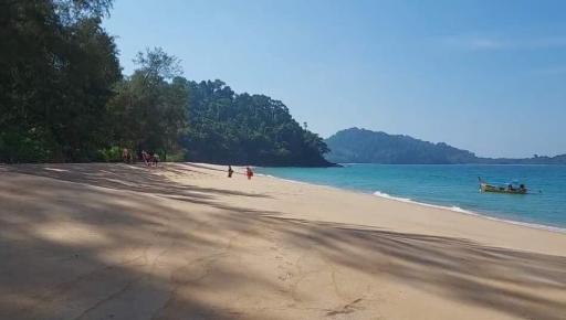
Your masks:
M258 172L566 232L566 166L344 166ZM530 193L482 193L478 177L490 183L516 180Z

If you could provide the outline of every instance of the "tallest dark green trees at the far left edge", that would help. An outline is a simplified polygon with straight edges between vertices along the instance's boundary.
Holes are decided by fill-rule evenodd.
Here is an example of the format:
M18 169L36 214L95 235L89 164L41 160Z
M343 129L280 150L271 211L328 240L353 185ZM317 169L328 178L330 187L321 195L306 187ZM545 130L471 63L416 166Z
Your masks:
M120 77L101 26L111 1L0 3L0 161L81 161Z

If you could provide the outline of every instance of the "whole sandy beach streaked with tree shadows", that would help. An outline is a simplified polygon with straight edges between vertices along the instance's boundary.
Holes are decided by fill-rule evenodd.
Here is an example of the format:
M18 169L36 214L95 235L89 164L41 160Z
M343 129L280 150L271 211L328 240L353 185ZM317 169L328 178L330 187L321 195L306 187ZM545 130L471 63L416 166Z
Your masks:
M0 319L566 319L566 234L242 172L0 166Z

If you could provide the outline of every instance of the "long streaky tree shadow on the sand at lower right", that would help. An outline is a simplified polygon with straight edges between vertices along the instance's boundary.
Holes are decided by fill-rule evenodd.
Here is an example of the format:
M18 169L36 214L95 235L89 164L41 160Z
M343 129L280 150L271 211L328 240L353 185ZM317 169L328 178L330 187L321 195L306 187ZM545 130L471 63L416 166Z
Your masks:
M286 235L284 242L316 248L333 264L367 274L385 273L431 295L513 317L565 319L566 257L462 238L266 218ZM535 295L533 289L545 295Z

